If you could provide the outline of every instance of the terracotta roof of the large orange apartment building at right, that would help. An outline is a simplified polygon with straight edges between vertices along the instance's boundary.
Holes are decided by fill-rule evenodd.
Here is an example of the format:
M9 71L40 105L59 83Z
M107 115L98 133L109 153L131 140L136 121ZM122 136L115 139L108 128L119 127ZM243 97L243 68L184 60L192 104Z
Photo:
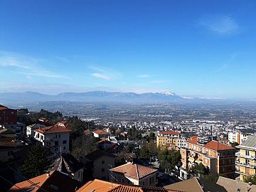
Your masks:
M215 151L235 150L235 148L232 146L228 146L216 141L210 141L207 144L198 144L197 137L191 137L191 139L188 139L186 142L201 145L203 147L206 147L207 149L212 149Z

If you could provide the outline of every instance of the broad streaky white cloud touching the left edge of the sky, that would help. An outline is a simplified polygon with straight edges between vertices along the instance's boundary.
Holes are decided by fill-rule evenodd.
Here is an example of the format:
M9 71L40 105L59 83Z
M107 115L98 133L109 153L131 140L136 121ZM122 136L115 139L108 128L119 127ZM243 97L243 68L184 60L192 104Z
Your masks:
M45 78L65 78L43 67L42 60L19 53L10 53L0 50L0 68L11 68L12 73Z

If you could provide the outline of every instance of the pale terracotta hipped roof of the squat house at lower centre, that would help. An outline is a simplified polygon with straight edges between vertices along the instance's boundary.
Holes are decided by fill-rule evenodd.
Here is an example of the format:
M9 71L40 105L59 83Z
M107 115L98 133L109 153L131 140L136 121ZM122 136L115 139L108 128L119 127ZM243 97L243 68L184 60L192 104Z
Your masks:
M147 166L132 163L117 166L110 170L124 174L124 176L128 178L134 178L137 180L139 180L140 178L144 178L145 176L149 176L150 174L154 174L157 171L157 169L152 169Z

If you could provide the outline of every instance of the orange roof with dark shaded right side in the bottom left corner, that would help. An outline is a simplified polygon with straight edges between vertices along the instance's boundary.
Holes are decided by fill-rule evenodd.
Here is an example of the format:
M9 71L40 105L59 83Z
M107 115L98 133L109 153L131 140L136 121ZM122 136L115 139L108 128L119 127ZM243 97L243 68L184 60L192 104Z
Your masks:
M48 192L56 192L56 191L66 191L73 192L75 188L79 188L81 183L76 181L73 178L70 178L68 175L63 174L59 171L50 171L50 176L47 174L43 174L41 176L36 176L34 178L30 178L29 181L23 181L21 183L16 183L15 186L12 186L9 189L9 192L14 191L48 191ZM21 189L20 189L21 188Z

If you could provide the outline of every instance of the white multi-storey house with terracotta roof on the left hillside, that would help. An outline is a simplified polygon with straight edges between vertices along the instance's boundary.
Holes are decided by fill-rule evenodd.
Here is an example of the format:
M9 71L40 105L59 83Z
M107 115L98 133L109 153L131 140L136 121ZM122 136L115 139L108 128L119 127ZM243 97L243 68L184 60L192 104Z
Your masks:
M58 122L53 126L36 129L34 139L55 153L68 154L69 137L68 123Z

